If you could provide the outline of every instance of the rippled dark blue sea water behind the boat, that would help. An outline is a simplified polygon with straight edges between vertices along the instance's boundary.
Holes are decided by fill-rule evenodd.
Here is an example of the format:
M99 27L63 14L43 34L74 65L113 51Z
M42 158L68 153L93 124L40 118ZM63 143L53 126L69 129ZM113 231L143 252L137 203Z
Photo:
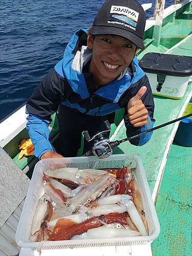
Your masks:
M92 26L104 0L6 0L0 5L0 120L24 104L62 58L73 33ZM146 17L153 16L155 0ZM166 6L174 0L167 0Z

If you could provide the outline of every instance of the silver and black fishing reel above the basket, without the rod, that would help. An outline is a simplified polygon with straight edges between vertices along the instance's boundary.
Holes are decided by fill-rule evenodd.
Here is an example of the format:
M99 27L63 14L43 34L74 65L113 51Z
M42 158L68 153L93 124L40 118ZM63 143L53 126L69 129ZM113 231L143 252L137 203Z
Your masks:
M114 142L111 142L109 138L106 138L104 135L111 131L111 126L108 120L104 121L106 125L106 131L97 132L92 138L89 135L88 131L84 131L83 135L86 140L89 142L93 140L93 147L90 151L88 151L84 156L96 156L97 158L104 159L112 155L112 148L117 146L117 144L113 145Z

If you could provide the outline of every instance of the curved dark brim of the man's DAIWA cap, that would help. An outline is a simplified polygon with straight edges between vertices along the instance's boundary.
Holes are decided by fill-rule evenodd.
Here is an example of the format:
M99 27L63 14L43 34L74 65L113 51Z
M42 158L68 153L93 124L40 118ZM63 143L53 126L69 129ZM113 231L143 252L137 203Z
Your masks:
M143 48L142 38L124 29L111 27L111 26L110 27L109 26L93 26L91 30L91 34L92 35L118 35L126 38L129 41L132 41L134 45L136 45L140 49Z

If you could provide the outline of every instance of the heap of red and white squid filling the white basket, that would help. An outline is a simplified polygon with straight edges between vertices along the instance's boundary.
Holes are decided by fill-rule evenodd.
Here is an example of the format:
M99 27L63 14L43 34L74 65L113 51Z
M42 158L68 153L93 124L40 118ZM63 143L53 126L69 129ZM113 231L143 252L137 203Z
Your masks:
M39 200L31 236L36 241L45 236L53 241L148 236L141 193L133 176L136 168L131 164L44 172L46 194Z

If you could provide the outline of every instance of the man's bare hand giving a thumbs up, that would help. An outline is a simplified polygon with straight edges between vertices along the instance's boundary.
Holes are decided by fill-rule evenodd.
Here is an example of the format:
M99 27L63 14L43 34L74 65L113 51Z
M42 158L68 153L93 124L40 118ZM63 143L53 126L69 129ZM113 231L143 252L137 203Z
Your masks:
M147 88L143 86L127 104L127 113L130 123L135 127L142 126L147 123L148 111L145 109L145 105L140 99L145 94L146 89Z

